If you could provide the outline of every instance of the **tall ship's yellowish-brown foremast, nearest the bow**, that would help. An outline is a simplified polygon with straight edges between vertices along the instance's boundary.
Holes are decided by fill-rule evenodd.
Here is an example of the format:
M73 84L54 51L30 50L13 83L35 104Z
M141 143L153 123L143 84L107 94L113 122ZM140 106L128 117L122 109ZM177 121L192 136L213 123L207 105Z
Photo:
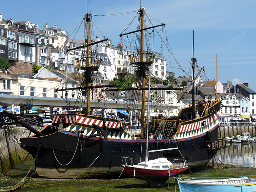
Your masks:
M88 14L88 0L87 0L86 23L87 23L87 44L90 44L90 14ZM89 67L89 47L86 48L86 67ZM91 82L87 82L87 86L91 86ZM89 115L90 115L90 95L91 95L91 89L88 88L87 114Z

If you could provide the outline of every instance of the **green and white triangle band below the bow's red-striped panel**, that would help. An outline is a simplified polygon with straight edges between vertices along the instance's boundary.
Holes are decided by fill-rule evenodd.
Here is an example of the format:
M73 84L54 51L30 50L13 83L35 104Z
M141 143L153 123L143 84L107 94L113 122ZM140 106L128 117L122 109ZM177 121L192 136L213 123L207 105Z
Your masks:
M72 131L72 132L77 132L79 130L84 131L84 135L90 135L90 134L97 134L97 130L95 129L90 129L90 128L85 128L85 127L80 127L76 125L70 125L64 130L66 131ZM125 140L132 140L132 137L127 134L126 132L116 132L116 131L108 131L108 139L125 139Z

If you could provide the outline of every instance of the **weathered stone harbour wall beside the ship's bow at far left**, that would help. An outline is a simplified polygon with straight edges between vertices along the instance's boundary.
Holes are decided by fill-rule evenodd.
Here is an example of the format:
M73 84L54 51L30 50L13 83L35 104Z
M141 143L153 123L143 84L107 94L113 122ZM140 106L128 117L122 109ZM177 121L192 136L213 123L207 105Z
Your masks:
M24 127L0 128L0 172L5 174L11 168L24 160L27 153L16 140L28 136ZM1 176L0 176L1 177Z

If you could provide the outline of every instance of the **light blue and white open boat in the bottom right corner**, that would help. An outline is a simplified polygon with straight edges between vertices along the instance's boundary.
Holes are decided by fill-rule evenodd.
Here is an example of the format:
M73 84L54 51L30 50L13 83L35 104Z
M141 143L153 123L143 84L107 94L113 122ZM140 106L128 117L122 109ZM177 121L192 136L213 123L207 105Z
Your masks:
M211 179L184 180L176 177L180 192L251 192L256 191L256 176Z

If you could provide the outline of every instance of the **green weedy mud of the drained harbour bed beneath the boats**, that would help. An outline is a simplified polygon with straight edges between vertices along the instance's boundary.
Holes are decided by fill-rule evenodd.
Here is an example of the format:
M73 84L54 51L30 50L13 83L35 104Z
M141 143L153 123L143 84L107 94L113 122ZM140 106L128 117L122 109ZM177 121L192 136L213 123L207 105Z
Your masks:
M23 164L20 163L14 168L6 172L6 174L0 177L0 191L10 191L11 186L22 186L18 191L38 191L38 192L78 192L78 191L114 191L114 192L159 192L159 191L176 191L179 192L177 182L174 177L170 177L166 185L161 188L150 188L148 184L143 180L137 180L134 178L124 179L110 179L110 180L96 180L96 179L72 179L72 180L60 180L60 179L48 179L37 178L34 174L34 166L32 166L32 158L28 158ZM27 175L28 171L32 169ZM122 174L126 174L122 172ZM27 176L26 176L27 175ZM241 177L256 175L256 169L252 167L241 167L235 165L224 165L220 162L214 163L214 169L212 168L212 162L208 164L204 169L182 174L183 177L196 177L196 178L224 178L224 177ZM24 183L19 184L24 177Z

